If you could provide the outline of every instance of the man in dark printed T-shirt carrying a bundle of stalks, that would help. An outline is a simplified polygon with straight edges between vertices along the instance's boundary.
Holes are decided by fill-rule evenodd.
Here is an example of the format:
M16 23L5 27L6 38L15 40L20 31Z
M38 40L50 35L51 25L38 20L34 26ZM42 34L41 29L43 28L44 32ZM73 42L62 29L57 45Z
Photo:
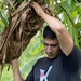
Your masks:
M43 12L33 2L31 6L48 26L43 31L43 43L48 57L40 58L25 81L79 81L81 53L73 44L60 21ZM21 77L17 59L12 60L14 81L24 81Z

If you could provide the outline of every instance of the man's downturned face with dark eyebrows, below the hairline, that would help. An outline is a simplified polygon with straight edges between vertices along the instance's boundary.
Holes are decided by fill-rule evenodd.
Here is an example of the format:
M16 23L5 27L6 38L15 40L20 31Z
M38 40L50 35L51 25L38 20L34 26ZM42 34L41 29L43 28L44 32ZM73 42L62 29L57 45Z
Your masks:
M49 58L55 58L56 56L58 56L60 49L57 39L52 40L49 38L44 38L43 43L44 43L45 53Z

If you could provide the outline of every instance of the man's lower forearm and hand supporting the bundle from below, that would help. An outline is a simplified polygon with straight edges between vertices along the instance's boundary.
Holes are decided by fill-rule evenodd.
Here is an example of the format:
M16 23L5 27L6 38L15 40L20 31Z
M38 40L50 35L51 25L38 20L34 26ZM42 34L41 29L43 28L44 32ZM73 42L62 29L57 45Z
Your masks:
M12 60L12 69L13 69L13 81L24 81L18 69L17 59Z

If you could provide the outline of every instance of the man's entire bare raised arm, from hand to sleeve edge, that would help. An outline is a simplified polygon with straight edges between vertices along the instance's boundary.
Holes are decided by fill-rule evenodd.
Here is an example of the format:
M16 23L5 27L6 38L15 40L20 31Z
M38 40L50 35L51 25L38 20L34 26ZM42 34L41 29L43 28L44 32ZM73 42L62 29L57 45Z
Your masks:
M56 33L62 51L66 56L68 56L73 49L73 40L67 29L64 27L63 23L59 19L43 12L42 8L38 3L32 2L31 6L35 9L36 13L42 17L44 22L50 26L50 28Z

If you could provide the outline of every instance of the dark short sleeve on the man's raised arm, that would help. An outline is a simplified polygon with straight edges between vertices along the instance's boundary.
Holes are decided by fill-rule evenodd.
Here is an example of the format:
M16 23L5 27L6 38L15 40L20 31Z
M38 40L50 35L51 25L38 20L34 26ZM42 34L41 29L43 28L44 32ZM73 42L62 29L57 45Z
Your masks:
M70 71L78 71L81 67L81 51L76 45L69 56L64 55L64 64Z

